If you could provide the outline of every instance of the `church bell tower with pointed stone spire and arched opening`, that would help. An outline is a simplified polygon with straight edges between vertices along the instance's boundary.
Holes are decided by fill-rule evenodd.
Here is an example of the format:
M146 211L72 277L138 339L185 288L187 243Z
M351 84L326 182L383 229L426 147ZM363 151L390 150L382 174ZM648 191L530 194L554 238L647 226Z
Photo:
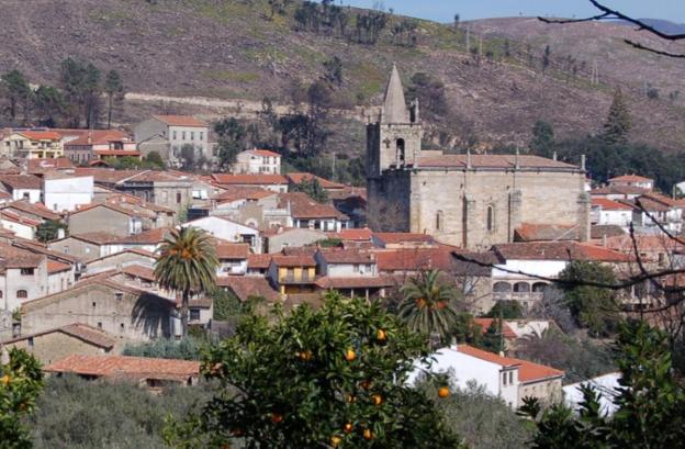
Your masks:
M407 106L393 64L381 112L375 123L367 125L367 177L375 179L388 169L414 167L420 157L422 137L418 100Z

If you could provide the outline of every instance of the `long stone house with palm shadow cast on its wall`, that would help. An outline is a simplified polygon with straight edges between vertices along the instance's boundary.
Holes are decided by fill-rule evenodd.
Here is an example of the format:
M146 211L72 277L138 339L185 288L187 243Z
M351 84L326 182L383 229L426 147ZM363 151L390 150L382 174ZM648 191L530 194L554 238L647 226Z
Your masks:
M22 304L22 332L32 334L82 323L122 340L175 336L176 302L146 290L96 278Z

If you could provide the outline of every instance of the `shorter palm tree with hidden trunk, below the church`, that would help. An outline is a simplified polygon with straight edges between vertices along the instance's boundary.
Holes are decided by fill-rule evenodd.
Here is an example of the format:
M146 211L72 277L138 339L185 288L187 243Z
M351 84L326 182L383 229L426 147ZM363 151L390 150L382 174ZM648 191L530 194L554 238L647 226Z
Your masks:
M459 313L459 296L452 285L440 282L439 270L422 271L402 288L404 300L398 315L407 326L424 334L439 335L445 340Z

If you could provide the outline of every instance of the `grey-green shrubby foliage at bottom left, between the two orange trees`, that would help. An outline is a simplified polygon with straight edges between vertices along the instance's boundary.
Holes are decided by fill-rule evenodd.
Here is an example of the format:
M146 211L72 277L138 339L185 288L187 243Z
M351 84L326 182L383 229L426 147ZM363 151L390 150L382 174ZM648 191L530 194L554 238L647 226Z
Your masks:
M157 395L128 383L50 378L31 423L35 448L166 448L165 419L180 418L209 397L203 383Z

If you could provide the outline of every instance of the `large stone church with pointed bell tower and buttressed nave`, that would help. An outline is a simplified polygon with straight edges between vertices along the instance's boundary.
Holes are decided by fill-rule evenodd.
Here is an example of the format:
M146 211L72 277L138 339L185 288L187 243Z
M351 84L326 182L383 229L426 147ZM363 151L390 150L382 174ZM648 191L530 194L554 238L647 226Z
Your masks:
M422 137L418 102L407 105L393 67L383 108L367 125L367 216L374 231L425 233L474 250L589 239L584 167L539 156L423 150Z

